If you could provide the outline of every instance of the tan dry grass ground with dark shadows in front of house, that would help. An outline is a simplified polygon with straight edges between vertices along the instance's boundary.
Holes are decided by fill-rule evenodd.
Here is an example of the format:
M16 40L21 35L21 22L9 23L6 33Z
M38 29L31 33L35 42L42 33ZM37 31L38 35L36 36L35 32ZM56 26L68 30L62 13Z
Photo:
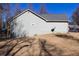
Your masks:
M0 55L11 56L79 56L79 33L46 34L0 40Z

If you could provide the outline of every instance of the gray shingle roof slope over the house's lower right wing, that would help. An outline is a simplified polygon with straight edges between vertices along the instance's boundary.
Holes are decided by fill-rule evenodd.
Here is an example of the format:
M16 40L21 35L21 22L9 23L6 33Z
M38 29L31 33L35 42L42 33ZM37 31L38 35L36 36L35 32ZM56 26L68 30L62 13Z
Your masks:
M65 14L40 14L40 16L44 17L46 21L55 21L55 22L62 22L67 21L67 17Z

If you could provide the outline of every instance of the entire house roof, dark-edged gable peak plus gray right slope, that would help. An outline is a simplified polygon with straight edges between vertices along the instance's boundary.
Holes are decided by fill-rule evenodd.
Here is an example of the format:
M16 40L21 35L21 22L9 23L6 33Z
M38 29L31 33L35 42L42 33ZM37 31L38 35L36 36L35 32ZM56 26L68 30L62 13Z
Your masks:
M21 13L19 13L18 15L11 17L10 18L10 22L13 21L14 19L16 19L17 17L21 16L22 14L24 14L25 12L31 12L32 14L36 15L37 17L43 19L46 22L67 22L66 19L66 15L62 14L62 15L57 15L57 14L36 14L35 12L31 11L30 9L24 10Z

